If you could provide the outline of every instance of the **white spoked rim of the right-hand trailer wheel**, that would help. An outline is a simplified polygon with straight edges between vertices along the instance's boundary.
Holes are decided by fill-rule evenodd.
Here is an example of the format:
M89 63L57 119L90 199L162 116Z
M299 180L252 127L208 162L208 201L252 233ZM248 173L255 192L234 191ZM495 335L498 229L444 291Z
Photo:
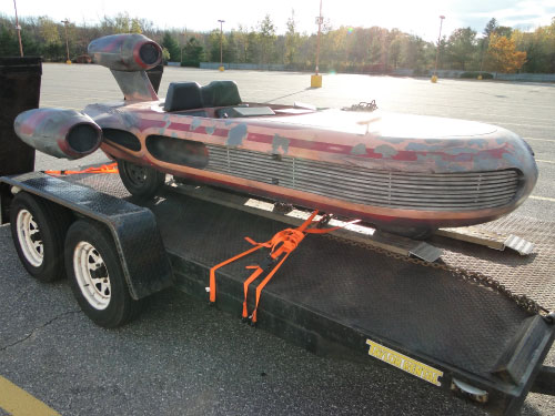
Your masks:
M84 298L95 310L108 307L112 296L110 275L104 260L94 246L79 242L73 252L73 271Z

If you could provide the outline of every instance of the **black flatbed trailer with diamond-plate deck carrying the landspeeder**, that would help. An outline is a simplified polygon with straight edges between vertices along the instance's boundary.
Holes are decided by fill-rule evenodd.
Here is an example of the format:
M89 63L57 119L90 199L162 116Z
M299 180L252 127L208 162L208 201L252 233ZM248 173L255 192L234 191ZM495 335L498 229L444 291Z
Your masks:
M212 266L250 248L245 236L268 241L290 226L170 189L154 202L139 203L110 174L58 179L36 172L0 182L2 223L14 194L27 192L72 219L104 224L135 300L174 285L208 302ZM509 229L522 223L509 220ZM456 255L455 248L466 244L458 242L447 243L456 247L444 262L470 271L487 263L490 271L516 268L500 277L503 283L539 297L553 311L554 227L546 222L534 226L533 221L519 230L541 242L527 260L471 247L470 253L478 254L472 261ZM263 260L264 253L258 253L216 272L219 308L241 316L243 282L250 274L245 266ZM506 291L503 295L453 270L311 235L264 288L258 326L316 354L395 366L400 374L466 397L492 414L518 413L531 390L553 395L553 368L543 366L554 339L553 314L531 314ZM250 291L250 310L253 305Z

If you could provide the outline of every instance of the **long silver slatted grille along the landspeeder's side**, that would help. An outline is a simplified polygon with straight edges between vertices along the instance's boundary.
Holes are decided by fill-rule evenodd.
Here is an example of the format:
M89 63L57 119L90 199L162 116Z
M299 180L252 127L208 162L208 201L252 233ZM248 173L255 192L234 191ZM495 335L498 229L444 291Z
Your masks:
M208 171L364 205L426 211L481 210L509 203L518 172L405 173L208 145Z

